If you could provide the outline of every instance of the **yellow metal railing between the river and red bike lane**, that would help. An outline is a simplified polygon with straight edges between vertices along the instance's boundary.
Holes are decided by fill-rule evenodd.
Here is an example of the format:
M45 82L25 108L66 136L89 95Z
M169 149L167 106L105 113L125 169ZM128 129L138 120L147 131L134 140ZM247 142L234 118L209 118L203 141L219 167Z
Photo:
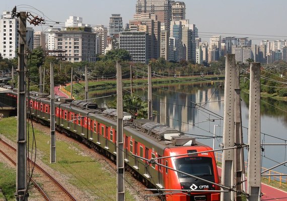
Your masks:
M218 152L214 152L214 156L216 158L217 163L222 163L222 154ZM244 161L245 170L247 170L247 162ZM261 172L267 170L265 167L261 167ZM272 174L275 174L276 176L272 176ZM279 184L279 187L287 187L287 176L285 175L278 175L282 174L280 172L276 172L274 170L268 170L267 172L263 173L263 175L270 175L270 176L264 176L266 180L268 180L268 184L272 181L276 181Z

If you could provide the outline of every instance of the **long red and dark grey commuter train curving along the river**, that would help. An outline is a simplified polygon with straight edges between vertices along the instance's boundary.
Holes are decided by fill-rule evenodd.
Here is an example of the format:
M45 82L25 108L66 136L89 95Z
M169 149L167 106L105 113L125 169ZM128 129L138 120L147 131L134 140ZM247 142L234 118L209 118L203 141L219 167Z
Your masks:
M16 97L17 94L9 95ZM31 92L27 107L33 119L49 125L48 94ZM219 192L208 192L208 190L220 190L219 186L172 170L176 169L219 183L214 154L204 152L211 150L210 147L197 143L194 138L163 124L146 119L132 119L129 113L124 113L123 122L125 168L131 170L138 179L165 194L167 201L220 200ZM94 103L76 102L73 99L56 96L55 125L57 130L82 139L89 146L116 161L115 109L100 110ZM149 162L152 158L161 157L165 158L157 159L157 163Z

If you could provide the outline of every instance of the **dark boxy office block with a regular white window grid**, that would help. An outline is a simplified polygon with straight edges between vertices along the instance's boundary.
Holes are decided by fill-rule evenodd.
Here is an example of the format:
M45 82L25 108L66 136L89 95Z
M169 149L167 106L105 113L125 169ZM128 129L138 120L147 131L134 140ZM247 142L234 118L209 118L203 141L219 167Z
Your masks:
M149 35L147 32L120 32L119 48L129 52L131 61L145 63L149 61Z

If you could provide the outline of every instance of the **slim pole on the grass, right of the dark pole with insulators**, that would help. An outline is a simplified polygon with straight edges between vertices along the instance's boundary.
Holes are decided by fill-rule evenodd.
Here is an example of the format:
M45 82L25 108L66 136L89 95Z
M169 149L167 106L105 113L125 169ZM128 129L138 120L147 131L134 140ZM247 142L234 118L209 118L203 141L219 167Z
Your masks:
M51 129L51 149L50 149L50 163L56 162L56 136L55 136L55 97L54 97L54 66L50 63L50 96L51 96L51 107L50 107L50 129Z

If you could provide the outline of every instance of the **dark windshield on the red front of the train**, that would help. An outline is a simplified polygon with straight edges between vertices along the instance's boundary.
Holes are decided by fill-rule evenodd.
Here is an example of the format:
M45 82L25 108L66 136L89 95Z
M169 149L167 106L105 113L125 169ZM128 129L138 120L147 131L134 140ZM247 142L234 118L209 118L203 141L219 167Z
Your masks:
M174 160L177 170L194 176L212 176L212 161L208 157L184 157ZM189 177L177 172L179 178Z

